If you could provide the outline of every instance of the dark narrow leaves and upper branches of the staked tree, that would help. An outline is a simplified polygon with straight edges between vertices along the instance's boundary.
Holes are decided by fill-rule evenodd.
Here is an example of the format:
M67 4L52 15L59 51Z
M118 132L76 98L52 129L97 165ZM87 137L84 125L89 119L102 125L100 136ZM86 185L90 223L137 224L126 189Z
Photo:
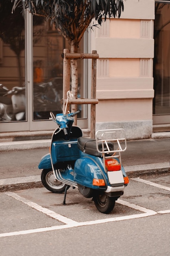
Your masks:
M44 16L51 25L61 31L69 41L81 40L93 18L101 25L102 20L120 18L124 10L123 0L11 0L13 9L22 4L33 15Z

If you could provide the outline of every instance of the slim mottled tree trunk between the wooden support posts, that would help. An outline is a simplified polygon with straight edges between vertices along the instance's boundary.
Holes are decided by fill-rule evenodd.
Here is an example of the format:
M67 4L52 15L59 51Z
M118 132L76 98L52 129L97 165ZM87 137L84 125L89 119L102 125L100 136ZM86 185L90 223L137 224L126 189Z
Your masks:
M71 53L77 53L78 44L74 41L71 43ZM72 77L72 94L73 98L77 99L77 90L78 90L78 66L77 66L77 59L71 59L71 77ZM77 111L77 105L72 104L71 112ZM77 116L74 117L74 125L77 125Z

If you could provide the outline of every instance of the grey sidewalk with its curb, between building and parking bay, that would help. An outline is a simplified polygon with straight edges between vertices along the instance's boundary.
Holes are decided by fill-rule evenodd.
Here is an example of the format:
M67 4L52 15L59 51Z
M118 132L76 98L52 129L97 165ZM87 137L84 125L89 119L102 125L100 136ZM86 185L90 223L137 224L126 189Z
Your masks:
M49 152L50 139L0 143L0 191L42 186L38 163ZM170 172L170 132L127 141L122 164L129 177Z

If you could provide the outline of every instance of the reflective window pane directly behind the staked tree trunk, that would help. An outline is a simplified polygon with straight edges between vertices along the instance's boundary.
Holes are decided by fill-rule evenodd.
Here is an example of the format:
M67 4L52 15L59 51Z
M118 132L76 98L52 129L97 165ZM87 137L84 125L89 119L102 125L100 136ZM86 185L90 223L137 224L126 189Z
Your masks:
M50 22L36 24L33 16L33 119L49 120L50 111L61 113L63 98L63 49L68 42ZM83 52L81 46L79 51ZM78 65L79 92L83 98L83 61ZM71 88L70 88L71 89ZM81 116L79 116L81 117Z

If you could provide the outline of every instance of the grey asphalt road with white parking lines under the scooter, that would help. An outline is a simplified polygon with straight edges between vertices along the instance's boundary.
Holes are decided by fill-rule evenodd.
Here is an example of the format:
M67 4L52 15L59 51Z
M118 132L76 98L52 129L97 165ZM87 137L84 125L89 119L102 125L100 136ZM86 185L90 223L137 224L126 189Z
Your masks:
M0 255L169 256L170 176L131 178L109 214L69 189L0 193Z

